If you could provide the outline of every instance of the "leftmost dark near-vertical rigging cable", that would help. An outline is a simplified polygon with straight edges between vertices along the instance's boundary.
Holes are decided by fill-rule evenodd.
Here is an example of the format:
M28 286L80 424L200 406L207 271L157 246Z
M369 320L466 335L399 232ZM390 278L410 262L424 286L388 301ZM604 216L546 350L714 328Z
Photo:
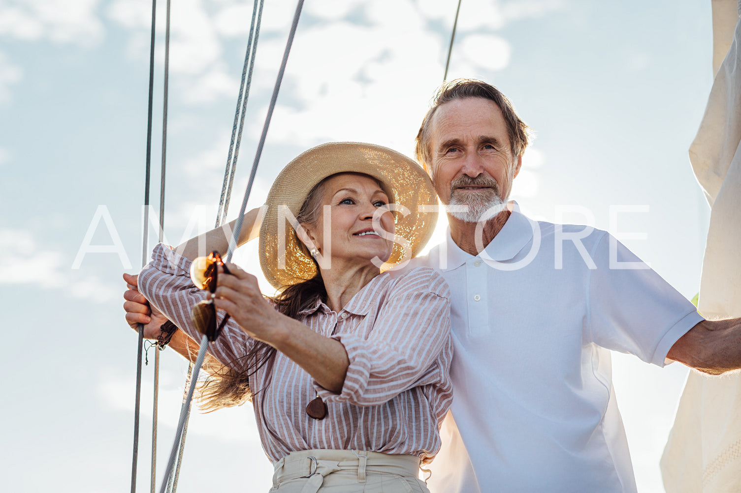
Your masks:
M149 107L147 110L147 164L144 174L144 232L142 234L142 267L147 263L147 226L149 221L149 178L152 155L152 96L154 89L154 28L157 0L152 0L152 37L149 51ZM131 493L136 492L136 460L139 454L139 409L142 402L142 348L144 325L139 323L139 348L136 356L136 401L134 403L133 457L131 460Z

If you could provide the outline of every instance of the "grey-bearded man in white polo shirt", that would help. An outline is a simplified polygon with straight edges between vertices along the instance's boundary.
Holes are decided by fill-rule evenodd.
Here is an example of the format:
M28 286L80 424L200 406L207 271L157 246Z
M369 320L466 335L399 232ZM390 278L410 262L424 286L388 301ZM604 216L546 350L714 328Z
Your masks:
M741 366L741 319L705 321L607 232L507 204L527 145L482 81L445 84L417 135L450 229L411 266L440 269L453 293L452 420L431 491L635 492L608 350L718 374Z

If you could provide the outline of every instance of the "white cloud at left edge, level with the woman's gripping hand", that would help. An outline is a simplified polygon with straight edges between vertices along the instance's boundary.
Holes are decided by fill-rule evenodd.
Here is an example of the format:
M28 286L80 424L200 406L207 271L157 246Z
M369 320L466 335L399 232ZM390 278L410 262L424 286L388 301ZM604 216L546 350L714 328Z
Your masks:
M18 252L33 261L19 262ZM69 268L70 261L61 252L43 249L30 232L22 229L0 229L0 272L17 285L41 289L62 289L72 298L96 303L121 296L121 290L104 284L96 276L84 276Z

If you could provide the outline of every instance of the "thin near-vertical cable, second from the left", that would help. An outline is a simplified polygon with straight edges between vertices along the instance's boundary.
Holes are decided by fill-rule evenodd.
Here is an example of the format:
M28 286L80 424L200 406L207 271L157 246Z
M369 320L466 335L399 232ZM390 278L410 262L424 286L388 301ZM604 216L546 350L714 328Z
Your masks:
M159 179L159 243L165 240L165 158L167 155L167 86L170 80L170 0L167 0L167 13L165 14L165 81L162 91L162 174ZM146 224L146 223L145 223ZM154 394L152 399L152 469L150 477L150 493L156 489L157 468L157 405L159 402L159 350L156 346L154 352Z

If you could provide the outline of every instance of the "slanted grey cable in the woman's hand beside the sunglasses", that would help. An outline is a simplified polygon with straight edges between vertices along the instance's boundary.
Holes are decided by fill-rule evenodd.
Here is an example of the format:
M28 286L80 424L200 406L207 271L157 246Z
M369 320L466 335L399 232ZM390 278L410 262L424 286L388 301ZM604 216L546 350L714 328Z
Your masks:
M242 222L243 222L243 216L245 214L245 209L247 208L247 201L250 198L250 192L252 190L252 184L255 180L255 175L257 172L257 166L260 161L260 156L262 155L262 148L265 146L265 138L268 136L268 128L270 127L270 120L273 118L273 110L275 109L276 101L278 100L278 93L280 90L281 82L283 80L283 74L285 73L285 67L286 64L288 64L288 55L290 53L290 47L293 44L293 37L296 35L296 27L298 27L299 24L299 18L301 16L301 10L304 4L304 0L299 0L296 4L296 12L293 14L293 23L290 26L290 33L288 33L288 41L286 41L285 50L283 52L283 59L281 61L280 69L278 70L278 77L276 78L276 84L275 87L273 87L273 95L270 97L270 106L268 107L268 115L265 117L265 124L263 124L262 127L262 134L260 135L260 141L257 145L257 150L255 152L255 160L252 164L252 170L250 170L250 179L247 181L247 189L245 190L245 196L242 199L242 207L239 210L239 216L237 217L236 221L236 227L234 228L230 241L229 241L229 249L227 251L227 262L231 261L231 257L233 255L234 246L236 246L236 239L239 238L239 232L242 230ZM201 338L201 344L199 346L198 356L196 357L196 361L193 364L193 377L190 380L190 388L188 389L187 393L187 406L190 407L190 400L193 399L193 390L196 387L196 381L198 380L198 373L201 369L201 365L203 363L203 358L205 358L206 354L206 348L208 346L208 338L204 335ZM178 421L178 428L175 433L175 440L173 443L173 449L170 452L170 459L167 461L167 467L165 468L165 471L171 471L173 468L173 463L175 462L175 455L179 446L180 437L182 435L183 427L185 424L185 415L187 414L186 409L182 409L182 412L180 413L180 419ZM167 488L167 483L169 482L169 475L168 477L165 477L165 480L162 482L162 488L160 489L160 493L165 493Z

